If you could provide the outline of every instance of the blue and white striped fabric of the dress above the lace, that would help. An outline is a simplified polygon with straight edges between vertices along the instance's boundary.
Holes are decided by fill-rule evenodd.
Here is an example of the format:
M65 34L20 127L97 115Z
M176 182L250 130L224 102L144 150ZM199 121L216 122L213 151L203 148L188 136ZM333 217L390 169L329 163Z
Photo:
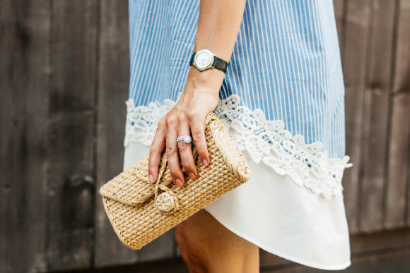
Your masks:
M129 0L135 106L177 100L187 80L199 0ZM305 143L345 153L344 83L331 0L248 0L220 98L281 120Z

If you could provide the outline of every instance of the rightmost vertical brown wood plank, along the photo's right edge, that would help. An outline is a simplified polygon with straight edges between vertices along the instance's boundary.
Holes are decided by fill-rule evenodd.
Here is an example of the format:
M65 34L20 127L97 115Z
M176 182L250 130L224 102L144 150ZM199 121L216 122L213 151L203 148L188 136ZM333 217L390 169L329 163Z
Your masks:
M387 207L385 227L409 225L410 176L410 1L400 1L397 12L397 45L392 88L392 120L389 139ZM407 215L406 215L407 214Z

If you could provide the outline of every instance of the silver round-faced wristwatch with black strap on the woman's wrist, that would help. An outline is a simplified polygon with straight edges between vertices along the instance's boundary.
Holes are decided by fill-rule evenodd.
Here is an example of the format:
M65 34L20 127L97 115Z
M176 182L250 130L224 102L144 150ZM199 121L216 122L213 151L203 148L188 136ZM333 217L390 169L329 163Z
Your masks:
M225 73L228 63L223 61L223 59L218 58L218 56L208 49L202 49L192 54L189 66L192 65L198 68L201 72L209 68L216 68Z

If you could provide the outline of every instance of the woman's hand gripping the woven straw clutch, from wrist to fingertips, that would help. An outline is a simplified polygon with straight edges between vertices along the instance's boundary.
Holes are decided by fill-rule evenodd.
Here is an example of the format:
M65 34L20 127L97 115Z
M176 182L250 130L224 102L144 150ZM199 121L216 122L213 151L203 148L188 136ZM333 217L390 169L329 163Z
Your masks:
M192 144L180 141L181 135L192 135L199 159L204 166L209 164L204 121L206 115L218 104L219 90L225 73L217 69L199 72L190 66L187 84L177 104L158 122L149 150L148 179L156 183L161 153L166 149L166 157L172 180L177 186L185 183L182 166L190 178L197 177L197 168L192 156Z

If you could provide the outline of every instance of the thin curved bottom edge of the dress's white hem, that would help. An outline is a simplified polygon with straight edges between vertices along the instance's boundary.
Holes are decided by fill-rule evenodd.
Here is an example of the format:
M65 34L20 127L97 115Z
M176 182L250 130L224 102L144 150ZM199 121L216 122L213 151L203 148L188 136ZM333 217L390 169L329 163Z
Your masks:
M206 209L206 207L204 207L204 210L206 210L206 212L209 212ZM226 224L225 222L223 222L222 219L220 219L219 217L216 217L215 215L213 215L212 212L209 212L209 214L211 214L213 218L215 218L218 222L220 222L223 226L225 226L225 228L229 229L230 231L232 231L236 235L240 236L241 238L244 238L246 241L249 241L250 243L253 243L254 245L257 245L259 248L262 248L263 250L265 250L265 251L267 251L271 254L282 257L283 259L286 259L286 260L290 260L291 262L297 262L300 265L305 265L307 267L313 267L313 268L322 269L322 270L342 270L342 269L346 269L347 267L349 267L351 265L351 260L346 262L344 265L333 265L333 266L317 265L313 262L306 262L305 260L300 260L298 258L292 257L291 255L281 253L280 251L272 250L271 248L267 247L263 243L257 242L256 240L254 240L254 239L250 238L249 236L245 235L244 233L234 229L232 226Z

